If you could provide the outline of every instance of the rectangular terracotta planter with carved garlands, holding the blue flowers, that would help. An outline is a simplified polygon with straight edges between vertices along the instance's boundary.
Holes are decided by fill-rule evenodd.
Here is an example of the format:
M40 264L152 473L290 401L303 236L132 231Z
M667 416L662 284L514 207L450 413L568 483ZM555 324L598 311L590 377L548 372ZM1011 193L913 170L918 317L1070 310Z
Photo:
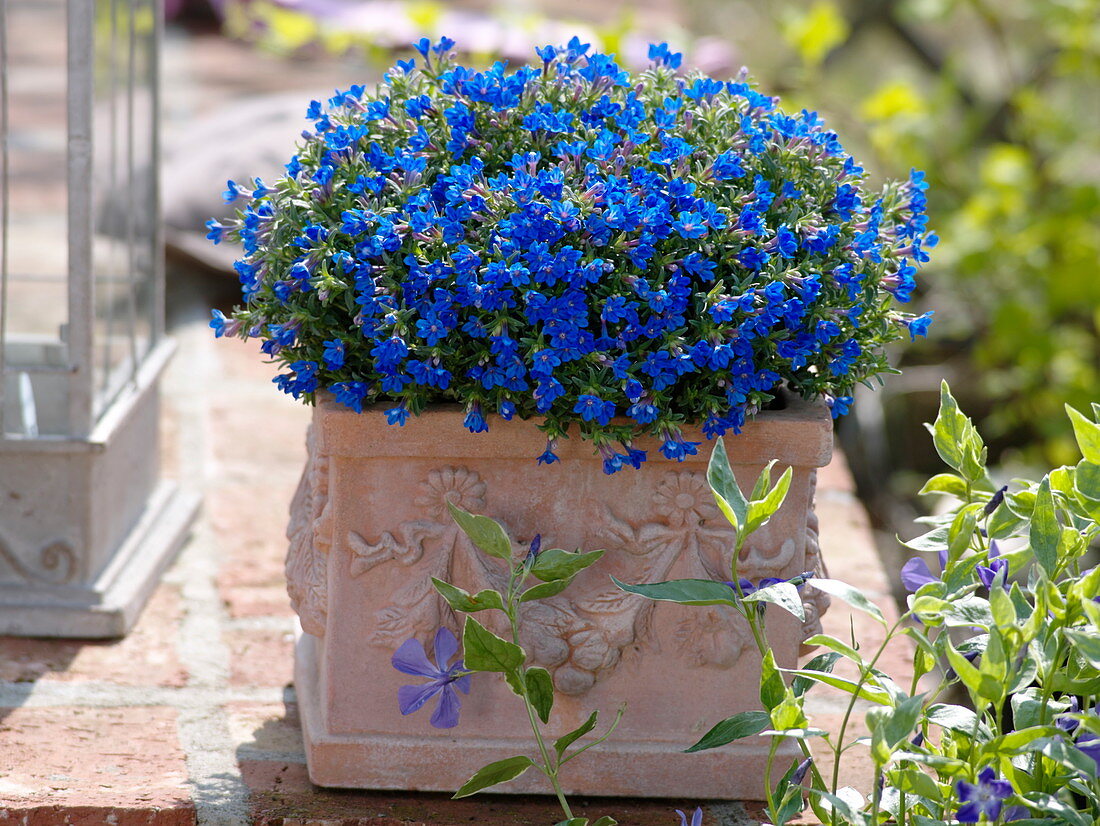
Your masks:
M397 709L398 686L414 681L391 667L394 650L414 636L427 642L440 624L459 627L429 576L476 591L501 575L451 521L450 497L502 521L517 547L538 532L544 548L607 549L525 618L525 647L561 692L551 734L592 709L609 723L627 703L613 739L566 767L566 791L760 797L763 738L682 753L722 717L757 707L759 658L748 629L725 609L624 595L608 577L727 579L730 531L705 482L710 444L683 463L642 444L650 460L641 471L605 476L579 439L559 442L560 463L538 466L544 438L530 422L494 421L492 432L472 434L462 419L458 407L440 408L398 429L331 401L314 414L287 557L305 630L295 680L314 782L453 791L484 763L532 748L521 705L494 676L474 678L458 728L433 729L429 712ZM727 438L743 486L769 459L794 469L785 504L746 549L741 575L821 568L813 492L832 443L824 405L798 399ZM802 626L769 616L780 664L793 665L802 640L820 630L827 597L806 587L804 599ZM532 771L494 791L542 792L542 780Z

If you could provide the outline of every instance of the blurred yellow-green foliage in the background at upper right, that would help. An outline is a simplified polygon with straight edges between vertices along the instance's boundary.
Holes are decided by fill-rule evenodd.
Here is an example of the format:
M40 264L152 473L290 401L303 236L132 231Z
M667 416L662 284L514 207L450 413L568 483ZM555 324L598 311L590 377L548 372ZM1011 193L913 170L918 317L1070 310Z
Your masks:
M1071 461L1063 405L1100 398L1100 2L685 8L876 174L927 172L943 243L917 300L936 324L905 357L980 394L968 406L994 444Z

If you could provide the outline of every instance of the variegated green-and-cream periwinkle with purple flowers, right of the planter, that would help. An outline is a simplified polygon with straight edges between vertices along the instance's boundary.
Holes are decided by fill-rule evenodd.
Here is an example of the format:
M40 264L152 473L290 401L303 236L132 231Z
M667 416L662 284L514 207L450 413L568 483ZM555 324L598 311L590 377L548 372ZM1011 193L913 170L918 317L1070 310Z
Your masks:
M1091 416L1067 411L1081 461L1038 482L998 486L980 434L944 384L930 429L950 472L930 480L923 493L947 496L950 504L906 543L922 555L902 571L912 593L895 620L837 581L741 580L736 552L725 584L624 585L656 599L729 605L754 631L761 709L719 720L688 750L771 738L766 791L777 826L803 810L804 796L822 823L834 825L1100 823L1100 405ZM762 476L746 495L727 467L719 442L708 478L739 548L754 520L778 507L766 503L785 492ZM824 653L801 668L777 667L761 632L762 607L771 603L801 616L800 584L868 614L883 629L881 645L867 649L855 638L816 635L807 642ZM879 668L883 652L898 645L912 654L908 685ZM807 716L811 689L844 695L835 730L815 727ZM860 702L869 706L869 736L850 731ZM803 759L773 782L783 738ZM809 746L814 741L816 757L828 758L832 771L818 770ZM851 749L867 749L875 767L873 788L864 792L838 785L840 759Z

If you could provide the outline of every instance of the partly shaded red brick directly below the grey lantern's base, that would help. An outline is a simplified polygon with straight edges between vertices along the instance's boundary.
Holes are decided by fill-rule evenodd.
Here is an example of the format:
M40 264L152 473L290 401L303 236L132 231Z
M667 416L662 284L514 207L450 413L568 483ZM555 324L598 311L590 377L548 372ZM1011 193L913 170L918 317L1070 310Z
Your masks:
M0 680L185 685L187 672L176 657L179 618L178 588L161 585L125 639L102 642L0 637Z

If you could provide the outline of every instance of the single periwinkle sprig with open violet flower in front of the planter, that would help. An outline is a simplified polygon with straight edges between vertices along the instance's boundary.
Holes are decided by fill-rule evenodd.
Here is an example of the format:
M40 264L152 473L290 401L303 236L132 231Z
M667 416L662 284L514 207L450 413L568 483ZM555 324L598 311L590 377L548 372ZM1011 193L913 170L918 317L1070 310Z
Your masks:
M455 615L465 616L461 643L449 629L440 628L435 638L436 662L429 661L422 643L416 639L405 641L394 652L392 662L395 669L426 680L398 690L398 708L402 714L413 714L433 697L439 697L430 723L437 728L452 728L459 723L459 692L469 694L471 680L476 674L498 674L527 712L535 741L534 756L517 755L483 767L454 796L476 794L535 769L546 777L561 805L565 819L558 826L588 826L588 818L573 814L562 791L559 773L566 763L615 731L623 708L601 736L590 737L598 722L597 713L593 712L580 726L571 731L559 731L550 740L547 731L554 705L553 681L546 669L527 664L527 652L520 645L521 612L524 605L562 593L578 573L598 561L604 552L543 549L540 537L536 536L526 551L517 557L499 522L469 514L452 503L448 503L448 508L471 542L492 564L502 569L501 587L471 594L432 577L436 590ZM496 621L479 621L473 616L483 612L492 612ZM460 648L463 656L455 659ZM615 823L614 818L604 816L594 821L592 826L615 826Z

